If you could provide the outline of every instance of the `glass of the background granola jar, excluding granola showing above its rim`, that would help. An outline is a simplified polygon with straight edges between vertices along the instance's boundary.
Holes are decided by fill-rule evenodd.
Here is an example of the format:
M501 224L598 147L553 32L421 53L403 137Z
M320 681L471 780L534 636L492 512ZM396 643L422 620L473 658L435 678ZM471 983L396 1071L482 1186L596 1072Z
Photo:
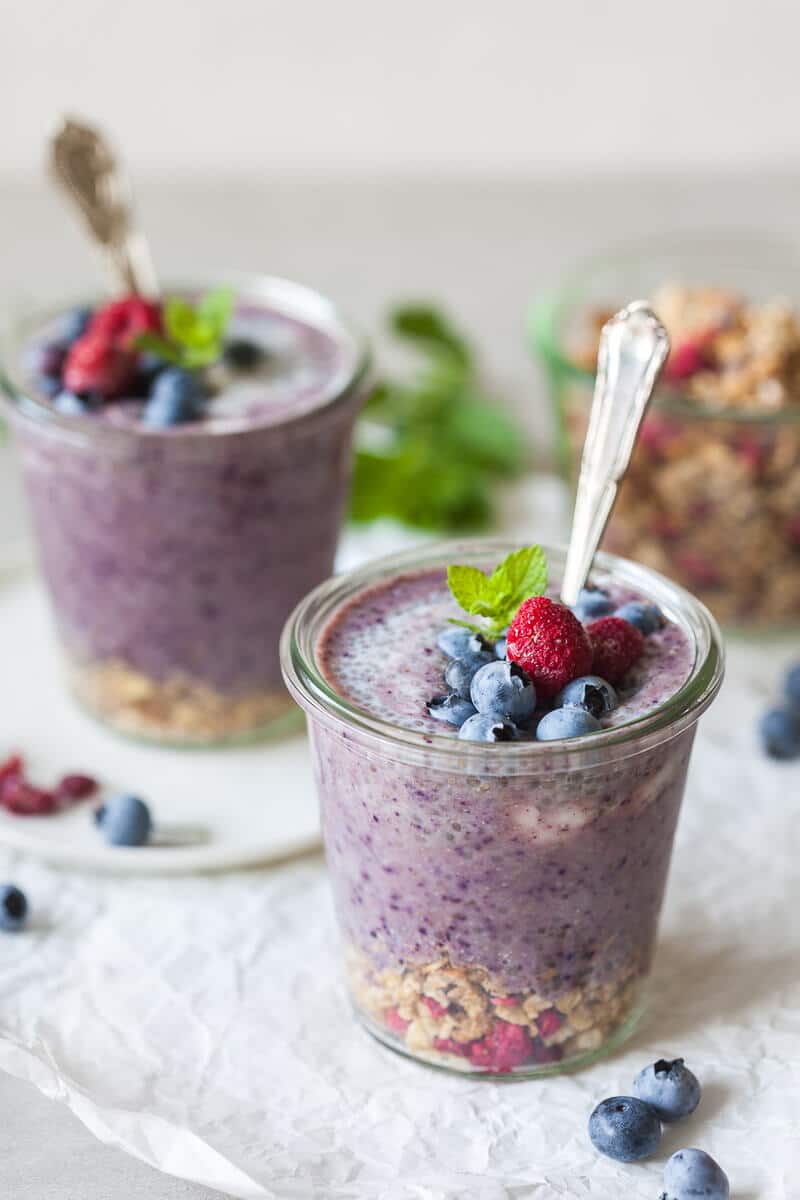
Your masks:
M800 307L800 256L782 241L697 236L591 260L531 311L559 457L575 487L594 372L577 361L593 310L648 299L662 284L730 287L748 301ZM800 624L800 403L720 408L657 389L603 545L662 571L726 625Z

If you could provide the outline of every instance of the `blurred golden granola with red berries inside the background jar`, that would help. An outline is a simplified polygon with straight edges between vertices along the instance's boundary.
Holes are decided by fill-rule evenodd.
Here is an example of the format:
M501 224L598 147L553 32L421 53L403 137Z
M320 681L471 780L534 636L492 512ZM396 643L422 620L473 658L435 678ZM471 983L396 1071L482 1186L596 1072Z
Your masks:
M654 410L620 488L606 546L663 571L723 622L800 618L800 318L720 288L662 288L672 337L664 384L680 406ZM576 360L594 368L600 328ZM569 389L573 462L585 389Z

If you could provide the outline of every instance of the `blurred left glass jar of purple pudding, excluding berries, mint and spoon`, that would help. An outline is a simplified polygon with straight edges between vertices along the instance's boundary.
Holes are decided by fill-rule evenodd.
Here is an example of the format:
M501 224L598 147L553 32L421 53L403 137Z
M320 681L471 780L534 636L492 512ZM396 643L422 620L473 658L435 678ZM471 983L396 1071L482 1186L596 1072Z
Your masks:
M290 715L281 628L331 572L361 398L363 347L327 301L278 280L235 295L228 338L258 361L212 366L191 422L149 426L133 385L77 415L24 366L10 389L72 688L121 732L179 744Z

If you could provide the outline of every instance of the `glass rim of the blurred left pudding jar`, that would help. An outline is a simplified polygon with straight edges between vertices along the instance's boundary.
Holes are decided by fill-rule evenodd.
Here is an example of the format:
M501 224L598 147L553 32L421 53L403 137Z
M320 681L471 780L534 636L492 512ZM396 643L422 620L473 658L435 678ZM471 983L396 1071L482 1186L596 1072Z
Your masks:
M180 281L170 281L167 292L179 295L192 294L193 292L209 288L207 278L184 277ZM213 280L213 287L230 287L236 293L239 300L260 301L281 306L287 314L299 320L306 319L315 329L327 331L338 341L347 338L353 347L353 359L347 371L339 371L331 377L331 382L323 394L323 397L309 409L297 413L288 413L284 419L275 425L257 426L231 426L229 428L207 430L203 426L181 426L182 436L188 432L192 440L204 438L235 438L247 437L254 428L265 432L273 428L276 433L285 430L295 421L302 421L309 416L323 418L339 403L348 401L362 385L372 365L369 342L366 334L345 317L341 310L329 300L323 293L302 283L295 283L276 275L253 275L243 271L223 272L222 278ZM0 394L14 413L25 420L37 422L62 433L66 438L80 440L86 434L86 419L80 415L70 415L56 412L52 404L36 396L26 382L19 377L18 358L25 341L41 330L49 320L54 320L61 313L71 308L91 306L97 302L97 296L72 296L58 304L50 304L40 310L31 310L22 320L17 320L11 330L4 331L2 338L2 362L0 362ZM7 364L7 365L6 365ZM132 438L174 439L175 431L157 426L118 426L107 425L98 421L91 422L92 439L103 439L109 443L130 443Z

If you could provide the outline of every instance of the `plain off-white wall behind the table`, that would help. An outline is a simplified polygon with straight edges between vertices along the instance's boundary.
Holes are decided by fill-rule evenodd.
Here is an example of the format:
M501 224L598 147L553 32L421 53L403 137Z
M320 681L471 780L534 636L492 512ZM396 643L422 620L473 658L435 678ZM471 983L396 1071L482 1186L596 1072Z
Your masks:
M552 172L798 157L792 0L0 2L2 162L68 108L146 167ZM13 114L13 119L10 119Z

